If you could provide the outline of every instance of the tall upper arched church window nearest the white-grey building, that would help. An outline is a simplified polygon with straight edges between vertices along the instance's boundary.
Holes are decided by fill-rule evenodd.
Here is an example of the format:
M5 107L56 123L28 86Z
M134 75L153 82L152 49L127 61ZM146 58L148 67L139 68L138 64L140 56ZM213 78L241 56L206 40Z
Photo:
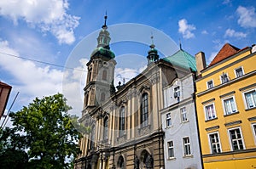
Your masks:
M143 93L141 104L141 124L143 127L148 126L148 93Z

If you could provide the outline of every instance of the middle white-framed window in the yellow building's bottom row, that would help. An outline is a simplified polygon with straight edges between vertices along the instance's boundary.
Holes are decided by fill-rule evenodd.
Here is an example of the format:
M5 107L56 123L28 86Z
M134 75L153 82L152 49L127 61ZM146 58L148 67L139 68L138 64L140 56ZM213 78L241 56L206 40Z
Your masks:
M233 151L244 149L240 128L230 129L229 132Z

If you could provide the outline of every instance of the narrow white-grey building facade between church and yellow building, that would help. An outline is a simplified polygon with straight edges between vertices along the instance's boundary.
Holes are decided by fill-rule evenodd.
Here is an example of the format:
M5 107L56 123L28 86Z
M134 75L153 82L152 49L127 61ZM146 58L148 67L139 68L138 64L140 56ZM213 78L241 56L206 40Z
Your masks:
M179 53L183 56L185 52L180 50ZM183 57L184 62L189 62L191 59L194 65L193 56ZM160 114L165 132L166 168L202 168L195 112L194 80L195 66L189 74L177 75L170 85L163 88L164 109L160 110Z

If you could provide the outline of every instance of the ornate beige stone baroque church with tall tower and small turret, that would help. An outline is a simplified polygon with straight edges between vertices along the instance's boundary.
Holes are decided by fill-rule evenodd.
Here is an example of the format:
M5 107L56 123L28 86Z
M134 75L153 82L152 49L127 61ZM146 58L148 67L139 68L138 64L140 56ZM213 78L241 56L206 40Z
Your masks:
M163 88L178 77L190 75L192 69L160 59L152 44L147 68L129 82L114 87L117 62L109 47L106 19L87 63L84 109L79 122L90 127L90 133L79 140L82 152L74 167L163 169L165 132L160 114L165 109Z

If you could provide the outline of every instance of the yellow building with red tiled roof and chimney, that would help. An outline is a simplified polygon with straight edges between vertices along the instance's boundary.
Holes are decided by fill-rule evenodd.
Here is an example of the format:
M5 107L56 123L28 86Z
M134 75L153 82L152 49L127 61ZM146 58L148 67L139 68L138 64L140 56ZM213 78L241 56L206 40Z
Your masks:
M256 168L256 46L226 43L205 68L196 54L196 109L206 169Z

